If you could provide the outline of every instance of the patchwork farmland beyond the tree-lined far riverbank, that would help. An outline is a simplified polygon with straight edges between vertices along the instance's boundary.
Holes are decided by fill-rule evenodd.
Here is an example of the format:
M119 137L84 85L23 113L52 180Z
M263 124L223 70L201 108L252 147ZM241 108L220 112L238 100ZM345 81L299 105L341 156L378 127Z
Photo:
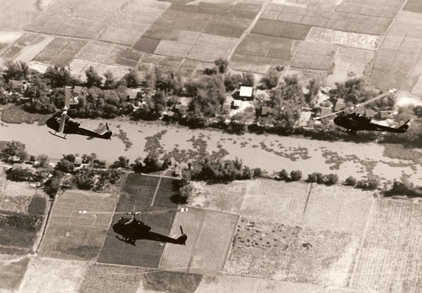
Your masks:
M87 66L100 73L115 70L120 77L128 68L160 66L159 58L206 66L222 57L233 70L264 74L284 66L285 74L316 70L329 86L366 77L381 89L422 93L420 66L414 66L422 62L416 0L48 0L27 8L4 6L2 16L11 21L0 22L1 63L23 60L39 70L71 64L82 80ZM29 35L36 37L31 44L20 42ZM127 58L126 50L139 54ZM141 61L143 54L153 54L155 61Z

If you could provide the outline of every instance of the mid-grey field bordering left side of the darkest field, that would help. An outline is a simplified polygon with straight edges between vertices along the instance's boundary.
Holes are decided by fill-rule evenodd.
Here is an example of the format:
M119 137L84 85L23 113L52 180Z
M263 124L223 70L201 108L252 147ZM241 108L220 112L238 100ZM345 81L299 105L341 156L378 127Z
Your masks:
M57 197L39 255L69 260L93 260L103 246L113 215L79 214L79 211L113 212L115 194L68 190Z

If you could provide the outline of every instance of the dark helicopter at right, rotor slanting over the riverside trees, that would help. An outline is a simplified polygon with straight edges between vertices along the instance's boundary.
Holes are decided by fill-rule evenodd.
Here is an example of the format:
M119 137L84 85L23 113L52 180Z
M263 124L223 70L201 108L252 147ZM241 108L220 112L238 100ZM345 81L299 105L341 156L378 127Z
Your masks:
M345 132L348 135L357 135L356 132L359 130L404 133L406 132L407 128L409 128L409 125L407 125L407 123L409 123L409 120L407 120L407 122L401 125L400 127L395 128L395 127L379 125L376 123L371 123L371 118L362 116L356 111L354 111L354 113L345 113L349 110L357 109L359 107L365 106L366 104L372 103L373 101L381 99L383 96L392 94L395 91L396 89L390 89L387 92L384 92L383 94L378 94L378 96L375 96L372 99L369 99L368 101L364 101L362 104L357 104L356 106L345 108L344 110L341 110L335 113L314 118L314 120L321 120L322 118L338 115L337 117L333 119L333 122L335 123L335 125L338 125L343 128L343 129L338 128L338 130L340 130L341 132Z

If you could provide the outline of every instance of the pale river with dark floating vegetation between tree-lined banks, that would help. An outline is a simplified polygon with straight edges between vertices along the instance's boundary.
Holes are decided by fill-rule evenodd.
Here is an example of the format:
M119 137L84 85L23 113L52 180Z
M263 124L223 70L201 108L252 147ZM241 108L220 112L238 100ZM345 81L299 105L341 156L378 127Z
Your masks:
M95 129L98 120L79 120L83 127ZM146 137L163 132L160 147L163 151L194 150L192 138L200 138L206 143L207 151L225 149L226 158L241 158L246 166L262 168L269 173L281 169L302 170L304 176L312 172L336 173L340 179L349 175L357 179L373 173L385 180L394 180L403 173L411 181L422 185L422 167L411 161L399 161L383 156L383 146L379 144L354 144L349 142L323 142L298 137L276 135L245 134L228 135L217 130L189 130L185 127L162 125L159 123L132 123L129 121L108 121L113 132L126 132L132 142L128 149L121 139L91 139L68 135L68 139L53 137L46 126L30 124L1 124L0 140L18 140L26 144L28 153L47 154L50 158L61 158L63 154L91 154L113 162L118 156L127 156L131 161L146 156ZM337 161L337 163L335 163ZM395 163L396 166L391 166ZM400 167L397 167L400 163Z

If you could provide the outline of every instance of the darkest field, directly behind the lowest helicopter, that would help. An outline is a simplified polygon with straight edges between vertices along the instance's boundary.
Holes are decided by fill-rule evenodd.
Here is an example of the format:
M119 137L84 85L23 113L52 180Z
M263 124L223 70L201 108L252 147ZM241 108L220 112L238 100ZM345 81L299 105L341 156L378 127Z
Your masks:
M170 201L170 197L174 193L173 184L175 180L177 179L130 173L122 187L122 194L117 203L116 211L160 211L167 208L177 208L177 204ZM170 235L175 214L175 211L160 214L141 214L137 216L137 219L150 225L151 232L167 236ZM122 215L115 215L112 223L117 223L121 217ZM177 237L179 236L177 235ZM165 249L160 243L151 241L151 239L140 239L136 241L136 246L129 245L117 239L113 227L110 226L98 261L158 268Z

